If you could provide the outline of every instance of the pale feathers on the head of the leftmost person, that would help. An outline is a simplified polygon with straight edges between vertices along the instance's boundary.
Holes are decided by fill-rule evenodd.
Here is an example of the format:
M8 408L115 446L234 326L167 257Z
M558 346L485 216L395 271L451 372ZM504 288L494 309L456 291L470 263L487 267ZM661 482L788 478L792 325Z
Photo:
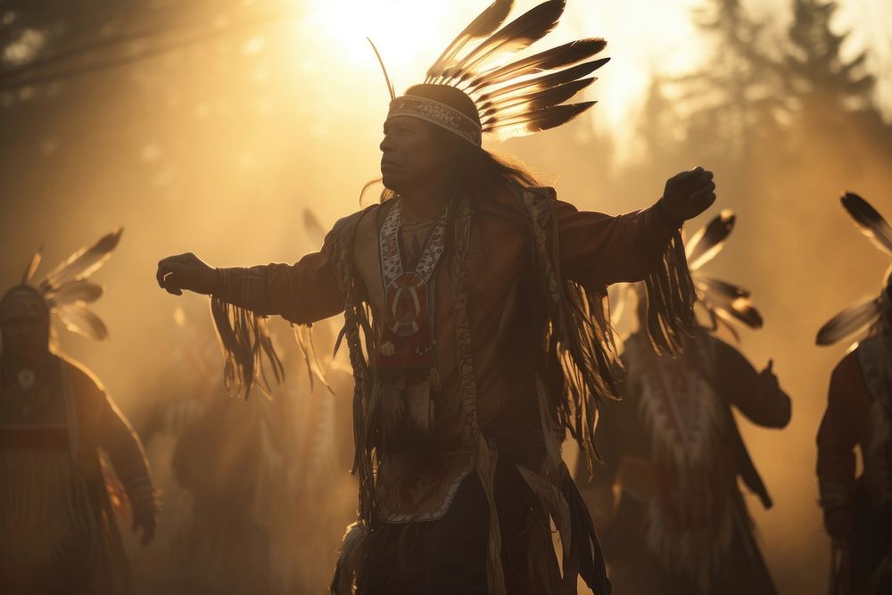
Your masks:
M12 287L5 295L11 296L17 289L28 288L43 298L46 310L54 314L63 326L78 335L102 341L108 336L108 329L102 319L89 310L89 304L102 297L103 288L89 281L89 277L111 258L122 232L123 229L119 227L92 246L74 252L41 281L34 283L43 252L42 249L38 250L29 261L21 284Z

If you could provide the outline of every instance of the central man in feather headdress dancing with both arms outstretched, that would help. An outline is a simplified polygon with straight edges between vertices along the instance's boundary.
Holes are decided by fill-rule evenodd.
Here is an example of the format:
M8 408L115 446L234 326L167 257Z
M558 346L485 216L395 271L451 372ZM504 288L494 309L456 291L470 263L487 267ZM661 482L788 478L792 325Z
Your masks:
M615 393L605 287L647 279L651 330L667 347L690 325L679 228L714 202L711 172L681 172L653 206L611 217L483 150L483 133L555 128L591 107L565 102L606 62L590 60L605 45L596 38L511 62L565 2L502 26L512 4L485 9L424 84L400 97L389 85L382 201L341 219L319 252L250 269L193 254L159 263L170 293L213 296L234 387L250 386L261 358L278 369L263 316L303 325L344 313L359 518L337 593L567 593L581 575L607 595L560 458L567 432L595 457L597 401ZM560 569L549 517L568 544Z

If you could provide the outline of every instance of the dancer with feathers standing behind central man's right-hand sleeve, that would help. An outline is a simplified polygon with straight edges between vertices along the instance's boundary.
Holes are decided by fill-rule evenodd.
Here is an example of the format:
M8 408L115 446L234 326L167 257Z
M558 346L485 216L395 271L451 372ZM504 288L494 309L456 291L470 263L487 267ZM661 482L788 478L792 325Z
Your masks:
M640 294L639 328L623 342L623 400L601 409L596 438L605 465L582 483L582 492L596 521L607 525L605 558L624 595L776 592L738 478L765 508L772 500L732 410L759 426L782 428L790 400L771 361L758 372L713 335L720 326L735 337L732 325L762 326L750 294L700 270L723 248L734 222L723 211L686 247L709 322L670 357L648 337ZM578 467L577 476L588 474Z

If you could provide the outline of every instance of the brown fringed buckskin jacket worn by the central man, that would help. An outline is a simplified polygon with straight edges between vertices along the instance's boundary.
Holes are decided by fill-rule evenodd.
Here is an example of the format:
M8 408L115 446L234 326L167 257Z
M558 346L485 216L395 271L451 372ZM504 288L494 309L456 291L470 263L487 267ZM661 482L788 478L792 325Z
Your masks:
M442 377L431 394L432 459L381 448L405 398L382 380L376 363L384 318L379 236L398 201L341 219L320 252L293 265L220 269L214 296L230 322L244 321L244 310L296 324L344 313L356 381L359 520L345 536L333 590L350 592L360 571L354 546L364 533L381 523L441 518L473 473L490 506L489 591L504 593L492 490L500 460L516 465L542 514L571 544L555 592L575 592L580 574L597 593L609 593L591 517L560 443L569 432L590 461L597 458L597 401L615 395L607 285L647 281L657 343L677 343L690 325L693 288L677 226L657 205L611 217L577 211L550 188L453 201L432 278L434 361Z

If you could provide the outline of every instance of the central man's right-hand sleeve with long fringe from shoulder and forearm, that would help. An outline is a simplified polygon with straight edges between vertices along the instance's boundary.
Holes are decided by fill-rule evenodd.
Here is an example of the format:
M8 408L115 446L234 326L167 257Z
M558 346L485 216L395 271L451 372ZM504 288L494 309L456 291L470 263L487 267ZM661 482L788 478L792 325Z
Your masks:
M695 297L681 235L656 205L611 217L576 211L550 189L524 192L521 199L533 220L533 248L551 302L547 345L551 383L561 394L558 421L579 443L591 473L599 460L599 401L619 397L606 286L645 281L651 336L665 351L680 347L694 321Z

